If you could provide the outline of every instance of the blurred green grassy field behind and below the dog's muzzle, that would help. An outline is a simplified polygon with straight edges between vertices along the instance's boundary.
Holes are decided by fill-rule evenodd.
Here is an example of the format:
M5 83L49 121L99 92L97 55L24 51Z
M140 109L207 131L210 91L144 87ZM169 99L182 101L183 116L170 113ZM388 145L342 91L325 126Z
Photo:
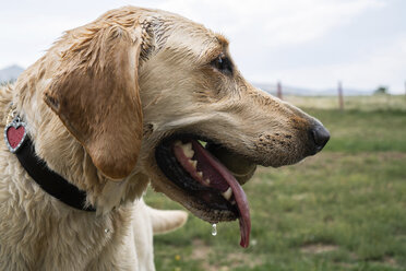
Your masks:
M238 223L217 225L214 237L191 215L155 237L157 270L406 270L406 98L351 97L343 113L331 97L287 99L330 129L325 150L295 166L259 168L244 186L248 249L238 245ZM181 209L151 191L146 202Z

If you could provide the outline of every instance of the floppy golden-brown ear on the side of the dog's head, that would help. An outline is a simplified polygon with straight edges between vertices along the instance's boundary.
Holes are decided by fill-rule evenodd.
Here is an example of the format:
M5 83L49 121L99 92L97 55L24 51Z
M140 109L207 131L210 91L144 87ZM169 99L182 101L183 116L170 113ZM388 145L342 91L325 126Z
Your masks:
M105 25L73 32L44 98L94 165L119 180L134 168L141 148L141 31Z

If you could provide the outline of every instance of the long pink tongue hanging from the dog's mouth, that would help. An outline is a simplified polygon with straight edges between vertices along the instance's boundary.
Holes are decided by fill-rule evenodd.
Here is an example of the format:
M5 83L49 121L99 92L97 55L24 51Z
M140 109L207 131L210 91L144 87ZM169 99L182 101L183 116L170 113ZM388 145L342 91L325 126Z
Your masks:
M198 170L203 172L204 179L210 178L210 187L216 188L217 190L224 192L231 188L234 198L236 200L238 211L240 213L239 224L240 224L240 246L247 248L250 243L250 232L251 232L251 219L250 209L248 205L247 196L241 188L237 179L230 174L230 172L225 167L216 157L214 157L210 152L207 152L198 141L192 140L192 149L194 151L193 158L198 161ZM174 145L175 156L183 168L191 174L191 176L202 182L202 178L196 175L196 169L192 168L189 163L189 158L184 156L181 146ZM205 182L203 182L205 184Z

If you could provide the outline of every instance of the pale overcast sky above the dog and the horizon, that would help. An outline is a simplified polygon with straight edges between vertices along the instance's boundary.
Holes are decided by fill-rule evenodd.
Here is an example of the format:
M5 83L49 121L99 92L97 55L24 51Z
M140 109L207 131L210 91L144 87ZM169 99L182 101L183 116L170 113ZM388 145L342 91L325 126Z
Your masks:
M224 34L244 76L307 89L404 93L405 0L1 0L0 69L34 63L62 32L132 4Z

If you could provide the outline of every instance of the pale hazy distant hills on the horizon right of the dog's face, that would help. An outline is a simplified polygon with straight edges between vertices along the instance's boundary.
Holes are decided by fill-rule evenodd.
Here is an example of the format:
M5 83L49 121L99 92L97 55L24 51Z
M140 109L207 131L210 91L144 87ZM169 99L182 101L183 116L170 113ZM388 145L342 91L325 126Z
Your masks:
M276 84L267 84L267 83L252 83L252 84L267 93L271 93L273 95L276 94ZM290 85L282 85L282 93L283 95L296 95L296 96L336 96L337 89L310 90L310 89L296 87L296 86L290 86ZM343 87L343 93L345 96L362 96L362 95L372 95L373 91Z

